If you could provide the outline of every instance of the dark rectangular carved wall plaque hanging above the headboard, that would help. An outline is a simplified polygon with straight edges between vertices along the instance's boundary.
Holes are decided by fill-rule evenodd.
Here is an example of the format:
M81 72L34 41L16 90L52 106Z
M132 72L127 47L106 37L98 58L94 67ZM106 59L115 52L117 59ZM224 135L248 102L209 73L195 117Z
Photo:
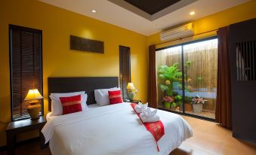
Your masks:
M104 53L104 42L70 35L70 50Z

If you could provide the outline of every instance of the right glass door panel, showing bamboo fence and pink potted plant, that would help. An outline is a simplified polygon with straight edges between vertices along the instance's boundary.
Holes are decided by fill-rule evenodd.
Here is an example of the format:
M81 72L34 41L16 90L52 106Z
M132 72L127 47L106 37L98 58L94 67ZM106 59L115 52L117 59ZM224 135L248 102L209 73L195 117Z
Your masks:
M217 38L184 45L185 113L215 119Z

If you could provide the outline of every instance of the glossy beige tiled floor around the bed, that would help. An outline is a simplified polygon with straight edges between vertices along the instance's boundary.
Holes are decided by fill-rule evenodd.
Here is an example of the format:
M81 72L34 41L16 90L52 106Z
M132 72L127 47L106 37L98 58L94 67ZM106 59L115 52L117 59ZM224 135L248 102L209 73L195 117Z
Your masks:
M193 138L187 139L170 155L256 155L256 145L232 137L228 129L216 123L184 117L193 128ZM6 155L0 152L0 155ZM39 141L17 148L17 155L51 155L49 148L40 150Z

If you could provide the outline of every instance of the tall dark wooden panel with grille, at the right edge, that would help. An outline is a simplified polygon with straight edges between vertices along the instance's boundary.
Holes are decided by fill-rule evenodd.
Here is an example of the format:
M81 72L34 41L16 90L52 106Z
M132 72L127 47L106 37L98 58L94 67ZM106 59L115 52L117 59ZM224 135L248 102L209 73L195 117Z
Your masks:
M233 136L256 143L254 61L256 19L230 25ZM246 61L247 60L247 61Z

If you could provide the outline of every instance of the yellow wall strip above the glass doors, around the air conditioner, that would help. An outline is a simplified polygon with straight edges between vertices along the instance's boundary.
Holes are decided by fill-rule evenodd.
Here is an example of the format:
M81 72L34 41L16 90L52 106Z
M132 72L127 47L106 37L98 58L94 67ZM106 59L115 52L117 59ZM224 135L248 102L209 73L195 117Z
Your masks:
M200 14L200 13L198 13ZM256 18L256 0L247 2L242 5L238 5L234 8L227 9L225 11L218 12L217 14L212 14L208 17L203 17L199 20L193 21L194 34L199 34L202 32L208 32L213 29L218 29L224 26L229 26L232 23L239 23L243 20L249 20ZM159 39L159 33L150 35L147 38L147 44L160 44L156 47L166 47L173 44L180 44L187 41L192 41L198 38L210 37L216 35L216 32L209 32L204 35L197 35L192 38L186 38L179 41L172 41L167 44L160 44L162 41Z

